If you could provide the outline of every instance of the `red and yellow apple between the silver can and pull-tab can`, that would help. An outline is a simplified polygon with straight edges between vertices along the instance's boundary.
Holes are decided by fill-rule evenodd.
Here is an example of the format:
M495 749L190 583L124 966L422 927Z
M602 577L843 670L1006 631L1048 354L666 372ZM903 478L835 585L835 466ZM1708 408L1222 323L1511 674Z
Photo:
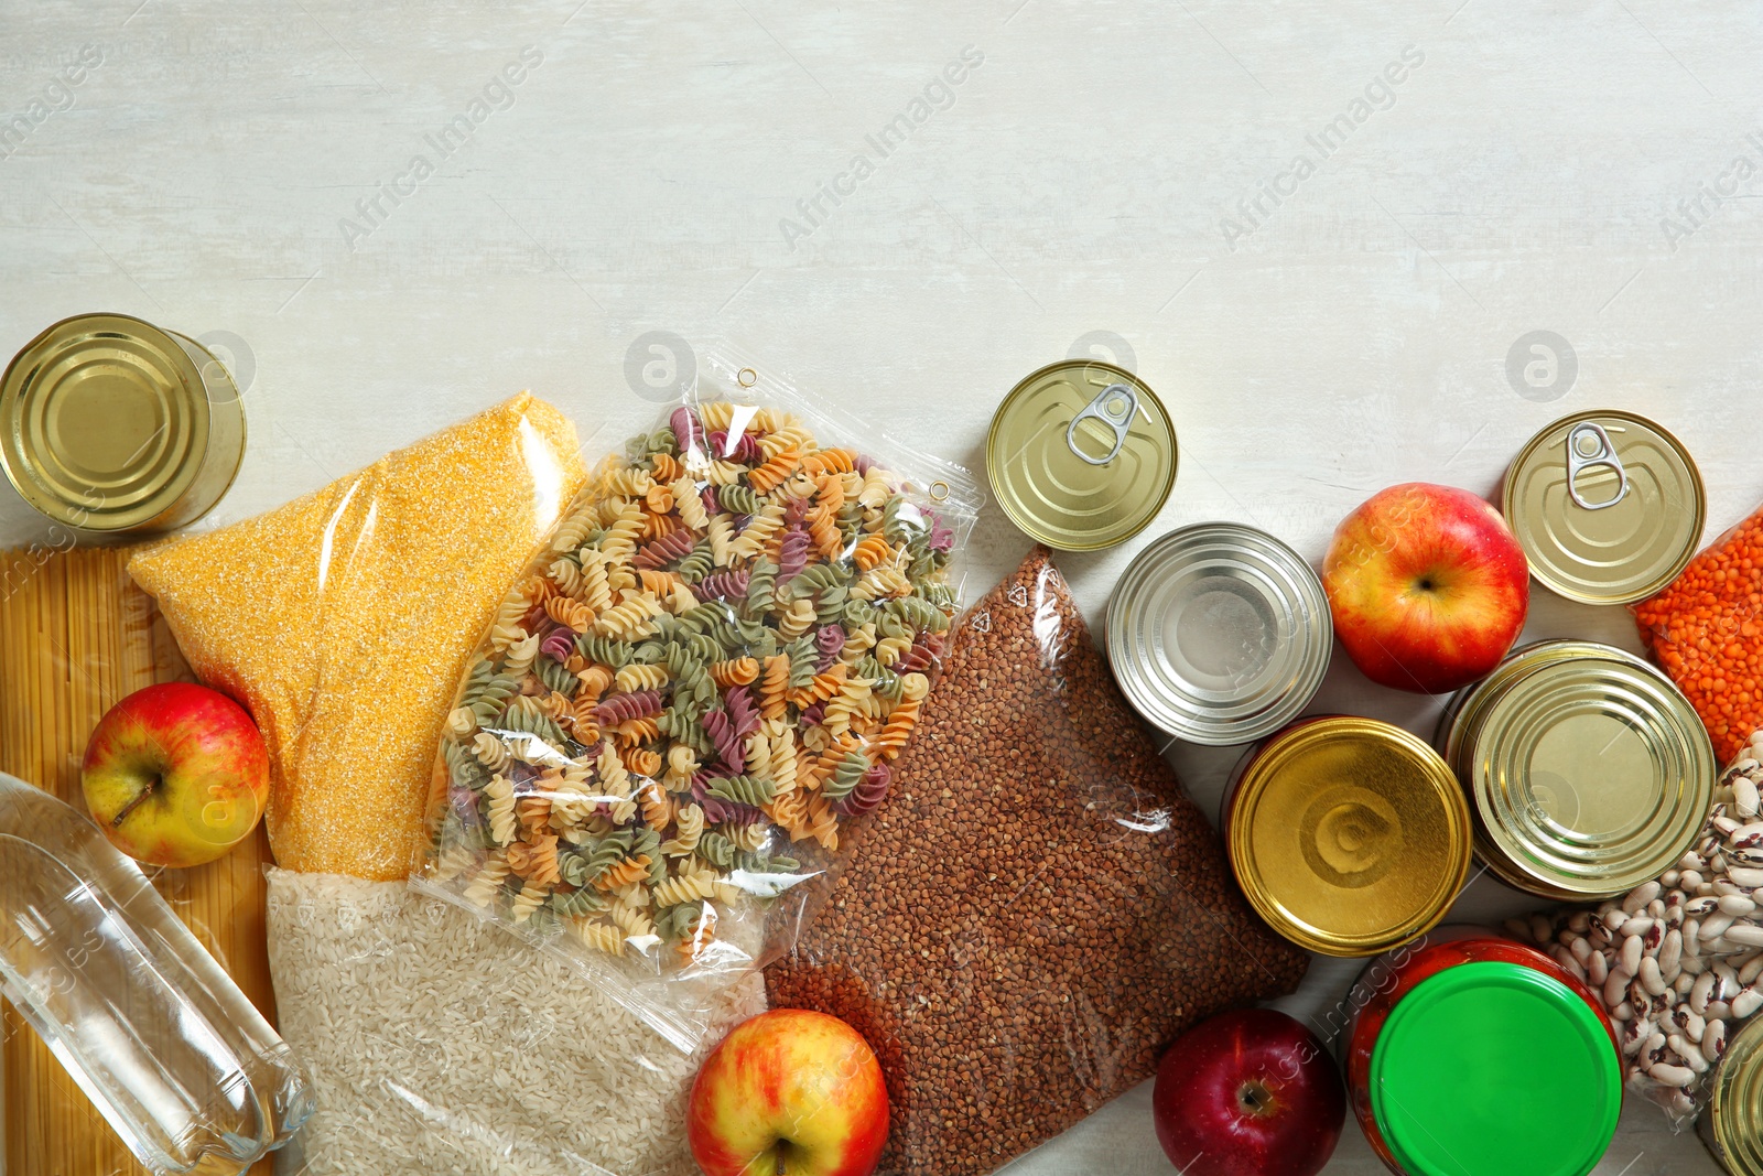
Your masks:
M1442 695L1488 674L1518 640L1530 566L1484 499L1409 481L1335 529L1322 587L1335 635L1365 677Z

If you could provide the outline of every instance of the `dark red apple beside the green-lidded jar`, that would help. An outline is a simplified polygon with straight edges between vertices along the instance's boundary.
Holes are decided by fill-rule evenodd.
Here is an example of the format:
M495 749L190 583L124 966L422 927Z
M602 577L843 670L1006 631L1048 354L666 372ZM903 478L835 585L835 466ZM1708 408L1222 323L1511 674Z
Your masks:
M1347 1093L1315 1033L1273 1009L1238 1009L1176 1038L1151 1116L1183 1176L1315 1176L1335 1155Z

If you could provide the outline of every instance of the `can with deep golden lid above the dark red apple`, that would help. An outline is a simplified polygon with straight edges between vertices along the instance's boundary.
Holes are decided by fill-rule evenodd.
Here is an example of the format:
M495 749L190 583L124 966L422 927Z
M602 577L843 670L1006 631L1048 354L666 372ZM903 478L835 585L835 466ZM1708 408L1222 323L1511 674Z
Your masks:
M1437 926L1463 889L1469 808L1419 735L1303 719L1245 760L1225 843L1275 931L1324 956L1377 956Z

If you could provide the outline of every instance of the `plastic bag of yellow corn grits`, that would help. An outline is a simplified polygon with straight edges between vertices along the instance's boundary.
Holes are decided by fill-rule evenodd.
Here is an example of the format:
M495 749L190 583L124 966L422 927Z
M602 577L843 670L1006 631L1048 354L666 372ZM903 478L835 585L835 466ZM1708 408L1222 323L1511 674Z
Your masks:
M129 561L196 674L263 728L277 862L384 882L421 859L453 686L584 478L575 427L520 393Z

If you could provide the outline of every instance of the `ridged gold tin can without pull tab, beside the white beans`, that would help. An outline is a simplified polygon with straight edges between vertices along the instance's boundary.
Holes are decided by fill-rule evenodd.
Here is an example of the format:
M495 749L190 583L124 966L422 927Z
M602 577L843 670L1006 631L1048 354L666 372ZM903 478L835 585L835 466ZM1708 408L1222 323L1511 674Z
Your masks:
M1435 746L1469 797L1476 852L1558 901L1615 897L1684 855L1714 797L1714 744L1640 658L1537 642L1453 696Z

